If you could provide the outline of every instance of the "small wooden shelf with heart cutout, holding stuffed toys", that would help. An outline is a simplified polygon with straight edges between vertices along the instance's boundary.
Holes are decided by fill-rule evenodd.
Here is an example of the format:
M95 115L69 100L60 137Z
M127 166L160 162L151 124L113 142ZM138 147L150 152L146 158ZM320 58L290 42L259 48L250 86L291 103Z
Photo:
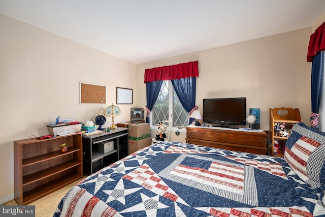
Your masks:
M287 111L287 112L286 112ZM288 137L282 137L279 132L277 132L275 128L275 123L281 123L281 125L285 126L285 130L291 132L291 128L295 123L303 121L300 116L300 111L298 108L270 108L270 155L277 156L282 158L285 142ZM278 140L280 153L274 154L274 141Z

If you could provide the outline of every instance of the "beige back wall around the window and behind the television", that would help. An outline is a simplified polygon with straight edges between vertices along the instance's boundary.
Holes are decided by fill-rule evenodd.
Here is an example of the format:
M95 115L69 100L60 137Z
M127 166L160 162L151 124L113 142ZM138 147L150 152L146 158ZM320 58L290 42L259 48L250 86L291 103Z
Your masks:
M311 27L138 65L138 91L145 96L144 70L199 60L196 104L204 98L246 97L249 108L261 109L261 128L269 130L269 109L299 108L309 125L310 70L306 62ZM145 106L145 97L139 98ZM152 135L155 134L152 131ZM171 139L185 141L185 134Z

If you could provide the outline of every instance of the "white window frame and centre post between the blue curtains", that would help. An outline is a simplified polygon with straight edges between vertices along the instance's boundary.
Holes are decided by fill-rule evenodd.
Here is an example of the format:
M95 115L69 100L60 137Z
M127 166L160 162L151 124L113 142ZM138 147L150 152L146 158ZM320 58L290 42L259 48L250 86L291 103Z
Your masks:
M172 87L172 88L171 88ZM173 105L173 97L174 97L174 87L172 81L168 81L168 120L171 121L173 125L173 113L174 113L174 105ZM158 125L153 125L152 121L152 113L150 112L150 130L158 130ZM179 131L180 133L186 133L186 127L172 127L171 132Z

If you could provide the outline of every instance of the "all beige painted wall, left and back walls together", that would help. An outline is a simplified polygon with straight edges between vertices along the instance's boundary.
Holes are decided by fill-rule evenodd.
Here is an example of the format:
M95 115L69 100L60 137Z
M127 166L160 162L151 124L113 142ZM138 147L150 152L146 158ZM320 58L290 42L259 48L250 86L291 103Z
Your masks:
M146 106L147 68L199 60L200 111L204 98L246 97L247 108L261 108L265 130L271 107L297 107L308 124L311 64L306 52L312 28L136 66L0 14L0 204L13 199L14 140L48 134L46 125L58 115L93 120L115 103L116 86L134 90L134 104L120 105L122 116L115 118L128 120L131 107ZM80 81L105 84L107 104L80 105ZM104 127L111 123L108 118ZM185 137L171 133L174 141Z

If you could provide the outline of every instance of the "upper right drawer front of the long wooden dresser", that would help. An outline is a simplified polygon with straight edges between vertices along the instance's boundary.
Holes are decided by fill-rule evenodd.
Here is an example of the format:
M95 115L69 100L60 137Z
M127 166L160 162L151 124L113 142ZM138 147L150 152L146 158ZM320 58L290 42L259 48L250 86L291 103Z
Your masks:
M266 136L221 133L221 142L264 147L266 146Z

